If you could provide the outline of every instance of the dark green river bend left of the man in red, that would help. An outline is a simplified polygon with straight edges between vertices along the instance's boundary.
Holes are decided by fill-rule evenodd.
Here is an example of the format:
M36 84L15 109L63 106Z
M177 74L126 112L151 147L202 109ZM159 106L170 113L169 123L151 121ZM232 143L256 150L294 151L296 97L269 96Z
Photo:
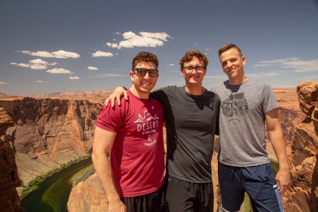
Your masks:
M84 168L92 166L92 159L74 163L48 177L20 201L24 212L67 211L67 201L72 189L72 176Z

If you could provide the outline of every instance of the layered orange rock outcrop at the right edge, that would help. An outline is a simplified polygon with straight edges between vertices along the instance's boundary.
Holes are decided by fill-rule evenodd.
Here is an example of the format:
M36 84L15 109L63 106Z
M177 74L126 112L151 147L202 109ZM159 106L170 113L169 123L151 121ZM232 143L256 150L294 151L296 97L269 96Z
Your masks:
M283 194L286 211L318 211L318 82L297 86L299 106L309 116L294 131L288 162L291 187Z

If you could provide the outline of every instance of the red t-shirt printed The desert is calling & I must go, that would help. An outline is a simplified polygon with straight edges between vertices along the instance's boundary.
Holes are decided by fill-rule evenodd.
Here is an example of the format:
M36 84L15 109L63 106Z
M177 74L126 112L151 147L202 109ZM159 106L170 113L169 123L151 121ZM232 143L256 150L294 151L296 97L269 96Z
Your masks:
M164 181L163 106L156 99L140 99L130 90L128 101L102 106L96 126L117 132L110 165L118 194L132 197L158 190Z

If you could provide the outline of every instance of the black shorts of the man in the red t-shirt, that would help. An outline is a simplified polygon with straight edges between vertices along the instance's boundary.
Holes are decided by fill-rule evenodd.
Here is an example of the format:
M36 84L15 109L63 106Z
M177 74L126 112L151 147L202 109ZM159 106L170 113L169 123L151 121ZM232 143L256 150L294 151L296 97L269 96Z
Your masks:
M158 190L141 196L120 197L127 212L168 212L165 197L165 185Z

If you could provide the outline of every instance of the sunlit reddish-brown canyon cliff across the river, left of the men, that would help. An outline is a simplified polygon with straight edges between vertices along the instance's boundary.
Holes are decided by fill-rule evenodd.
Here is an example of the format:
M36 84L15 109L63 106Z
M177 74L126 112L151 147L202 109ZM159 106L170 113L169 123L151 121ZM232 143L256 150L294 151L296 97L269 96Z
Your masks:
M75 99L0 99L14 125L6 134L24 184L61 164L90 154L101 104Z

